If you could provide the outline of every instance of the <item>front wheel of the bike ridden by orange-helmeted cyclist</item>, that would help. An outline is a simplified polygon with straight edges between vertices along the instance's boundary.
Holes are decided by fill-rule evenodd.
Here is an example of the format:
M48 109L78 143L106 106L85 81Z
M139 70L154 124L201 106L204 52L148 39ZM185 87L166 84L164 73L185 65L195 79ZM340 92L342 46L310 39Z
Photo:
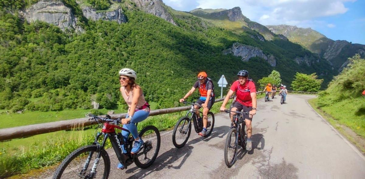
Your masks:
M191 133L191 123L189 118L184 116L180 118L172 132L172 143L176 148L183 147L189 139Z

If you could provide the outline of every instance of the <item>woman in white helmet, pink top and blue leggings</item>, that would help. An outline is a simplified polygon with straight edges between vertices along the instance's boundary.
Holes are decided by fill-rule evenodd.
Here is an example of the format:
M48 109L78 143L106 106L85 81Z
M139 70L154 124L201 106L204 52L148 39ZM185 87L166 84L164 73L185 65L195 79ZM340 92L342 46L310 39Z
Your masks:
M150 114L150 105L146 102L141 87L135 83L137 74L134 70L123 68L119 71L120 93L128 104L128 114L122 119L125 129L128 129L134 138L134 145L131 153L138 153L143 146L143 140L138 136L137 126L135 123L145 120ZM128 139L129 133L122 131L124 141ZM125 167L119 163L119 169Z

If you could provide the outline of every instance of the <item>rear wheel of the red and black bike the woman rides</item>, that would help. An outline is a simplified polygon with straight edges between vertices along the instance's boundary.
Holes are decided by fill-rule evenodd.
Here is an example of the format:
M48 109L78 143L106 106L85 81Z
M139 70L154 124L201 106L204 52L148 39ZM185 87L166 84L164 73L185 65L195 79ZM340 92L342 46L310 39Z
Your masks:
M155 126L146 126L139 132L139 137L145 142L141 150L134 158L134 163L139 168L148 168L156 160L160 151L161 136Z

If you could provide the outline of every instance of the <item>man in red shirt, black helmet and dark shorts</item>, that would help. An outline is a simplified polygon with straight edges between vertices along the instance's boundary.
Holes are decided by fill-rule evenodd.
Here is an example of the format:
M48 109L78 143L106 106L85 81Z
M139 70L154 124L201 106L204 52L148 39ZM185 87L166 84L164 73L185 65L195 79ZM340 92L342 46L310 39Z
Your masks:
M226 98L223 101L222 106L220 107L221 111L226 110L226 104L230 99L231 95L236 92L236 102L232 106L232 111L241 111L249 112L249 115L245 115L245 122L247 126L247 144L246 150L250 151L252 149L252 141L251 141L251 134L252 134L252 117L256 114L256 87L253 83L252 79L249 79L249 72L246 70L241 70L237 74L238 80L235 81L230 90L228 91ZM233 122L233 115L235 113L231 113L231 122Z

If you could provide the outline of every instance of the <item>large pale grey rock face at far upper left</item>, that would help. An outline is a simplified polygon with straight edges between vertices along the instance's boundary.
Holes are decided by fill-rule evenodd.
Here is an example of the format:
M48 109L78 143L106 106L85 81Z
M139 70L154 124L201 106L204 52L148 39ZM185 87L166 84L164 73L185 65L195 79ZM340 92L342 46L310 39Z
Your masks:
M40 20L50 24L54 24L61 30L75 30L76 32L84 31L77 26L77 18L72 9L66 7L61 0L41 0L33 4L30 8L21 12L27 22Z

